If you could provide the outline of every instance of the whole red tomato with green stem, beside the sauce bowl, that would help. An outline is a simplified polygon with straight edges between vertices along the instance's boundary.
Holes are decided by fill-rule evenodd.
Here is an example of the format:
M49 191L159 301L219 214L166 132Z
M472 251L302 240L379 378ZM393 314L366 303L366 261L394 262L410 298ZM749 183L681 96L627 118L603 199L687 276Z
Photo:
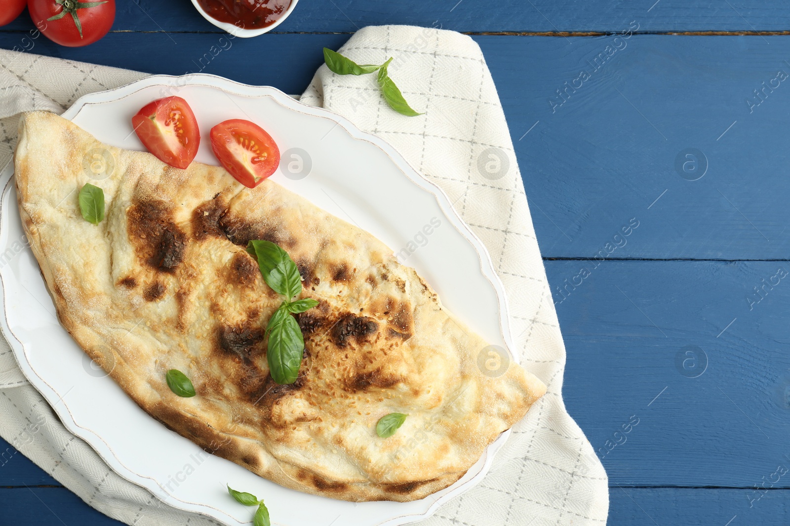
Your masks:
M115 0L28 0L28 11L36 28L62 46L80 47L96 42L112 27Z

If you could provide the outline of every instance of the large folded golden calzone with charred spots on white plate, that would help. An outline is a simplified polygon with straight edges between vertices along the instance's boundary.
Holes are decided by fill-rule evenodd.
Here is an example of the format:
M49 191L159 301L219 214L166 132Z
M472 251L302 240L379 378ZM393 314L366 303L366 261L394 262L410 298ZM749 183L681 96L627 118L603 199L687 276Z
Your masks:
M88 169L96 155L111 165L106 178ZM47 112L21 119L15 169L32 252L85 353L153 418L284 487L424 498L545 392L518 364L480 367L487 341L392 249L273 181L250 189L216 166L171 168ZM98 225L81 216L85 183L104 192ZM301 297L318 301L297 315L303 363L289 385L269 375L265 326L282 297L250 240L288 252ZM171 369L194 397L168 388ZM379 437L393 412L408 416Z

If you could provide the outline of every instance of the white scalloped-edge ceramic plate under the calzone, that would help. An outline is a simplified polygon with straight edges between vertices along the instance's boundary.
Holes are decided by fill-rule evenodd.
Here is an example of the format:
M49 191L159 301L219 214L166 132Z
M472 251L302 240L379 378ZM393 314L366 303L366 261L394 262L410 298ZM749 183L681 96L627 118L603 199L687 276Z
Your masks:
M420 177L389 144L350 121L274 88L209 75L149 76L86 95L63 116L105 143L142 151L131 116L153 99L176 94L189 101L198 118L203 137L198 161L217 164L208 140L217 122L257 122L283 154L274 181L366 229L395 252L406 248L401 258L411 253L404 263L434 286L447 308L491 344L512 347L505 294L483 244L439 188ZM138 408L58 324L36 259L25 246L12 176L13 164L0 176L0 188L5 188L0 203L2 332L24 374L66 427L115 472L167 504L226 524L249 523L252 509L228 496L225 484L230 483L265 498L274 523L282 526L407 524L430 516L478 483L506 440L507 432L453 486L405 503L352 503L299 493L203 452ZM423 227L433 218L441 225L425 235Z

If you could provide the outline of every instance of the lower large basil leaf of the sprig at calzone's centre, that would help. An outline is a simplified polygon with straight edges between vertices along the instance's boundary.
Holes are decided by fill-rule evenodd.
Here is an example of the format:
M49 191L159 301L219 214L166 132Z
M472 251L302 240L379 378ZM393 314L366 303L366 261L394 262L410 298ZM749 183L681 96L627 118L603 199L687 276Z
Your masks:
M299 323L288 312L288 303L280 305L266 330L269 332L269 345L266 349L266 360L272 379L279 384L293 383L299 376L304 353L304 338ZM282 311L284 314L278 315Z

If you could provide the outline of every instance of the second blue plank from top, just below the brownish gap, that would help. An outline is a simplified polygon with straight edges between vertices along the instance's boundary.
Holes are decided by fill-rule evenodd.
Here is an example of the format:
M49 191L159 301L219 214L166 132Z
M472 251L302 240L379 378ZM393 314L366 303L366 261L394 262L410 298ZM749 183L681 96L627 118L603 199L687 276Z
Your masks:
M77 49L30 42L36 53L151 73L205 71L299 93L321 48L348 38L171 36L175 43L162 33L114 33L102 47ZM0 34L0 46L19 38ZM790 39L475 39L502 97L545 257L790 257L790 91L777 80L790 74ZM230 47L206 55L217 43ZM250 56L274 48L266 67L249 67ZM640 227L623 237L632 218Z

